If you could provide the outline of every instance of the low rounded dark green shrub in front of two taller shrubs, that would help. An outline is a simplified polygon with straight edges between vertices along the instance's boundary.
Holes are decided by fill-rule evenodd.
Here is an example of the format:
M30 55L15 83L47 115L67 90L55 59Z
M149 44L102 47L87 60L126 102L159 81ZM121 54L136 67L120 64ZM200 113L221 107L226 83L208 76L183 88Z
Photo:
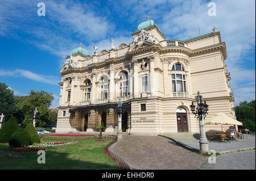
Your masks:
M15 133L11 135L9 146L23 147L27 145L32 145L32 142L27 132L25 132L22 128L19 128Z

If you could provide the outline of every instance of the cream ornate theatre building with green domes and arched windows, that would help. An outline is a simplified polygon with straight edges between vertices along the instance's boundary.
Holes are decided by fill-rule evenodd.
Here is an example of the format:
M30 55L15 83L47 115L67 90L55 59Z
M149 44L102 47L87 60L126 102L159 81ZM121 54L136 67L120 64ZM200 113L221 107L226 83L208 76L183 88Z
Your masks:
M209 30L211 31L211 30ZM57 133L117 132L117 101L122 131L131 134L199 132L190 111L197 91L209 105L205 121L218 112L236 118L226 45L217 28L187 40L166 40L153 20L132 34L133 42L94 55L73 49L60 70ZM174 37L175 38L175 37ZM205 125L205 131L221 129Z

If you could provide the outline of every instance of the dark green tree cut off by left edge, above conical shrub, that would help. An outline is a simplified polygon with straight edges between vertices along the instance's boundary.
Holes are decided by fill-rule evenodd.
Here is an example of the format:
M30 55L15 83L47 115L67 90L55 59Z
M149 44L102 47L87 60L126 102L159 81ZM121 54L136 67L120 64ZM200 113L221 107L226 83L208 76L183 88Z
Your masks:
M16 112L16 99L13 90L5 83L0 82L0 114L5 115L5 120L9 120Z

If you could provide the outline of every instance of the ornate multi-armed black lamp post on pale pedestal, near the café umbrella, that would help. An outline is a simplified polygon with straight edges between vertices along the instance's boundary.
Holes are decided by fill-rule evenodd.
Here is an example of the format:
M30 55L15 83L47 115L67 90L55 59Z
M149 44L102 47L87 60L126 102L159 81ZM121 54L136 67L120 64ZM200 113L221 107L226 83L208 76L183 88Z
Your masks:
M195 105L194 102L192 101L191 104L191 111L193 114L195 114L198 119L199 119L199 128L200 128L200 151L201 153L205 153L209 151L209 142L207 140L207 137L205 135L205 127L204 127L204 117L205 115L208 113L208 105L206 104L206 102L204 101L204 103L202 103L203 100L203 96L200 95L200 92L197 92L197 96L195 96L196 102L197 102L197 108L195 111Z

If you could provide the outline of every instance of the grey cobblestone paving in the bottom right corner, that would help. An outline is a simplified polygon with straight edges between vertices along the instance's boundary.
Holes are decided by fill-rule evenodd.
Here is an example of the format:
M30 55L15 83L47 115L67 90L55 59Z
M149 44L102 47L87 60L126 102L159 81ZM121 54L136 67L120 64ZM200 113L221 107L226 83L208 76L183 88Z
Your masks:
M202 170L255 170L255 150L222 154L216 163L205 163Z

